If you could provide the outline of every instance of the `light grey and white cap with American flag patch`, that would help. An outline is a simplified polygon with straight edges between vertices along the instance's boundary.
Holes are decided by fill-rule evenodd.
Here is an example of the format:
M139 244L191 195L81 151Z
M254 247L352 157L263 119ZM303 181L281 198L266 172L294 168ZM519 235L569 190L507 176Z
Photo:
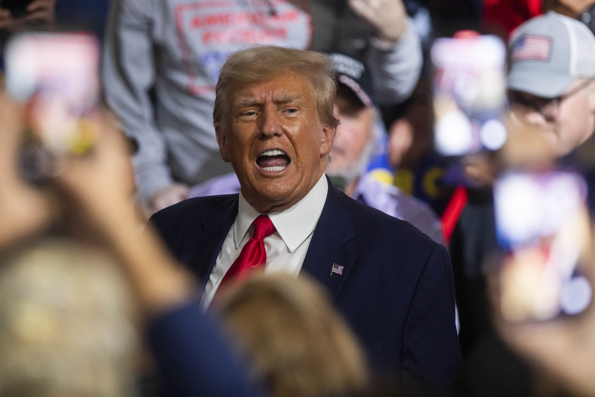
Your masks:
M575 80L595 77L595 36L580 21L550 11L512 33L508 60L509 90L556 98Z

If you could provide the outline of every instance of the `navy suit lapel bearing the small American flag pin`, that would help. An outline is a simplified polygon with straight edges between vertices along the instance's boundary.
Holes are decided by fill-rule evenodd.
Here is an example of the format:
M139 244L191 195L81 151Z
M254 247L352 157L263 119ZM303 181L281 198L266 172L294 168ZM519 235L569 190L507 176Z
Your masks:
M347 201L328 180L327 200L308 247L302 270L330 290L333 300L349 275L357 255L345 248L345 243L355 237ZM340 273L333 273L336 264Z

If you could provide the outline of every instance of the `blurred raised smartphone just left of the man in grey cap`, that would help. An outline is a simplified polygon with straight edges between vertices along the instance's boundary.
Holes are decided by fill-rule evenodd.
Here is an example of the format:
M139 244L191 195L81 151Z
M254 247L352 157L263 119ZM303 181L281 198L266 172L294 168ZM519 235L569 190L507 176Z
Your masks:
M431 49L434 65L434 146L444 156L506 141L506 47L499 37L459 32Z

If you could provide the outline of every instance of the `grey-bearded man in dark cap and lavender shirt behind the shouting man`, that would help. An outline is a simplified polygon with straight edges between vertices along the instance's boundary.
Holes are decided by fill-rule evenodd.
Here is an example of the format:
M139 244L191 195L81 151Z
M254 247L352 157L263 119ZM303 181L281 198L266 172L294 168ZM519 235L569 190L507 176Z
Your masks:
M350 197L406 220L434 241L444 244L440 220L427 204L366 173L384 133L378 110L372 105L370 87L366 85L367 72L364 64L347 55L330 54L330 59L338 72L334 114L340 124L325 173L333 185ZM192 187L189 196L239 192L240 181L235 173L231 173Z

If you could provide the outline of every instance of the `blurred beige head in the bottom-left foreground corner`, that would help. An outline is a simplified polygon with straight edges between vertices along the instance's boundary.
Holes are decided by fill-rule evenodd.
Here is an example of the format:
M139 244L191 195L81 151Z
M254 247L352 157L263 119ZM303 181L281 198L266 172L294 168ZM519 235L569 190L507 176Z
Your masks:
M46 240L0 258L0 396L133 392L133 299L113 262Z

